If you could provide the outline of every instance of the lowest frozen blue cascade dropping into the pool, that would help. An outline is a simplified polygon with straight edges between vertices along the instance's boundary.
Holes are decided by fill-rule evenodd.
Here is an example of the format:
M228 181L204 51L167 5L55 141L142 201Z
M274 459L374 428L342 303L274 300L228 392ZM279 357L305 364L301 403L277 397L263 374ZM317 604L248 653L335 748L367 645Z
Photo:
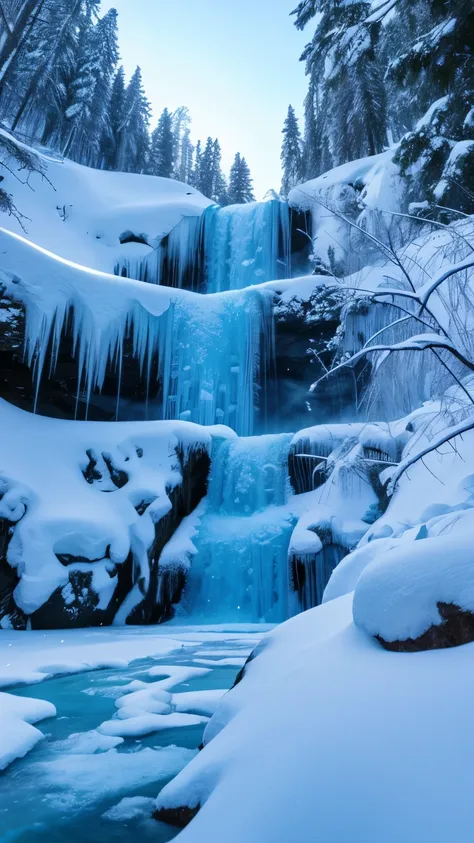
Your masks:
M291 441L278 434L216 442L182 607L191 617L276 623L291 614Z

